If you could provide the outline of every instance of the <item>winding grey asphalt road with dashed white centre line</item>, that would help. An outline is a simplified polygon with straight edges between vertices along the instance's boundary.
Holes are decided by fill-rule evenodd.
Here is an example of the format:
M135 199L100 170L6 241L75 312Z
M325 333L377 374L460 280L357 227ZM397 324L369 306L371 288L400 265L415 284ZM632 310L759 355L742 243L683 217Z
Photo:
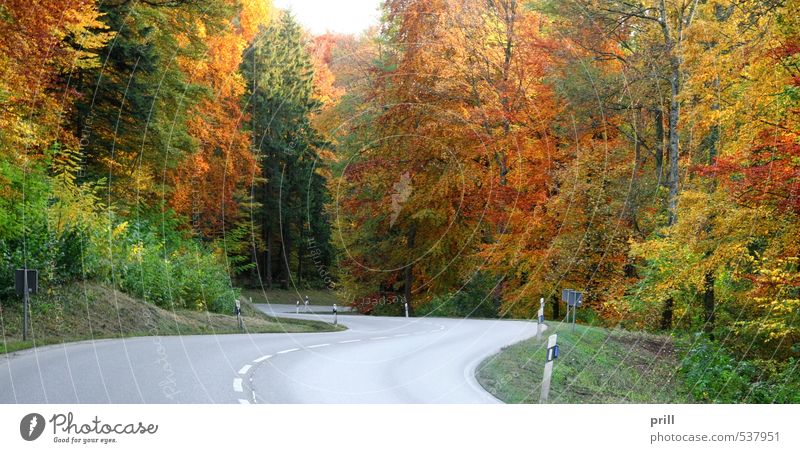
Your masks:
M298 316L294 306L259 308ZM349 329L97 340L12 353L0 356L0 403L492 403L475 368L536 333L522 321L341 315L339 322Z

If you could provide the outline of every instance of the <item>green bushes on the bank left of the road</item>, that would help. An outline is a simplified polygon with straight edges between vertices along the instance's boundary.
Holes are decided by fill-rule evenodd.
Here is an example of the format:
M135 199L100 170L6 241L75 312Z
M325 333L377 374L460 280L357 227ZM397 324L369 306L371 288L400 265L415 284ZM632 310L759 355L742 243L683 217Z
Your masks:
M71 162L58 147L53 156ZM62 167L26 176L0 162L0 180L18 195L0 198L0 297L16 298L14 270L27 265L43 291L95 279L162 308L233 312L238 293L224 261L185 238L179 217L155 208L126 222L102 203L100 184L80 185Z

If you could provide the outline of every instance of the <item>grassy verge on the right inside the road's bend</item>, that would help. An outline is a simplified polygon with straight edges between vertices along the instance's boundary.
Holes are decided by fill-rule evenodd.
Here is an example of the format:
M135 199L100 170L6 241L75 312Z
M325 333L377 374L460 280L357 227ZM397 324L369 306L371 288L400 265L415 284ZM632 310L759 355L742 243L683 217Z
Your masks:
M599 327L551 328L484 361L481 385L507 403L538 403L547 337L558 334L560 357L550 385L551 403L685 403L670 337Z

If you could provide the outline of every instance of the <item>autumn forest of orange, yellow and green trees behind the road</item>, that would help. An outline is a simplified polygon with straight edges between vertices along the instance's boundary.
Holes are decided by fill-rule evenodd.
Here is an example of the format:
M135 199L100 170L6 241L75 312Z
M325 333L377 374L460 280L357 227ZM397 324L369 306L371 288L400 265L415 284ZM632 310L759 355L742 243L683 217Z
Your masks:
M558 321L571 288L682 339L695 400L797 402L798 216L798 0L385 0L360 35L0 5L4 305L19 268L218 313Z

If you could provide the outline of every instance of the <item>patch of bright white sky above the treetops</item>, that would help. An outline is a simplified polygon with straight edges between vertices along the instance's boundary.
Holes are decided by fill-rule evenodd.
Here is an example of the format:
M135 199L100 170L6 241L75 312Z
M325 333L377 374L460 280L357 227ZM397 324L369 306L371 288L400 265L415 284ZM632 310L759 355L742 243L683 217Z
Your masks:
M290 9L297 21L311 33L326 31L358 34L378 24L380 0L274 0L281 9Z

